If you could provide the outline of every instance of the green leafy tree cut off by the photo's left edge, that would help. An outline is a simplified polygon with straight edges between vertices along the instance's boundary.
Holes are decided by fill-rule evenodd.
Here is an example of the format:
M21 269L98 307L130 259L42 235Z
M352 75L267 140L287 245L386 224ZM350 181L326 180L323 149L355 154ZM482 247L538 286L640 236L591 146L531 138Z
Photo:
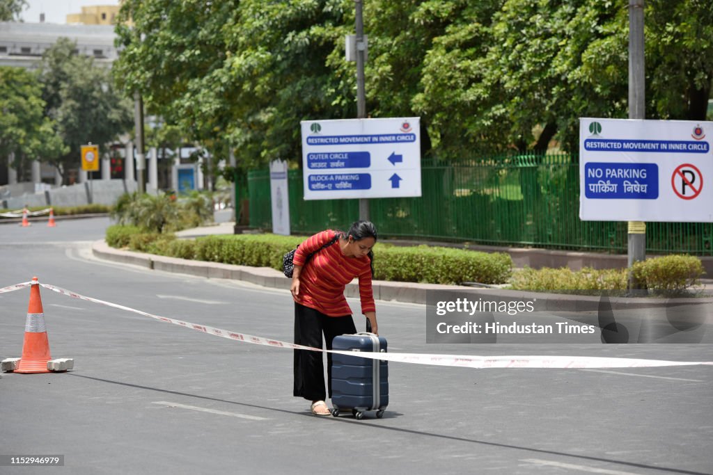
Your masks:
M22 175L32 160L66 153L53 122L43 116L44 101L36 74L0 67L0 157L14 154L11 164Z

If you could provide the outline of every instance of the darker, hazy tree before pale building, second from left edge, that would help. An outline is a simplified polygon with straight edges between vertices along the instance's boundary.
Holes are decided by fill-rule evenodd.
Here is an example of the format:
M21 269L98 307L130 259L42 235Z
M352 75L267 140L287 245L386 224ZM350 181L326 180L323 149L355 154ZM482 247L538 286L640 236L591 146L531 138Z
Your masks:
M68 169L78 167L81 145L107 145L133 125L131 104L114 89L109 72L93 58L74 54L75 48L60 38L44 53L40 68L45 113L68 147L49 161L65 182Z

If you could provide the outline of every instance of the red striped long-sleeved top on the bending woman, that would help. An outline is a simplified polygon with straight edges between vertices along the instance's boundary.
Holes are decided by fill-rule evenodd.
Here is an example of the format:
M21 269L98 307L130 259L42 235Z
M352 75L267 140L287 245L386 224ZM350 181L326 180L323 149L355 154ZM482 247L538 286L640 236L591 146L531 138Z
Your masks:
M294 265L303 266L309 254L332 241L336 235L336 231L328 229L305 239L294 253ZM352 309L344 298L344 288L356 277L359 278L361 313L375 312L369 257L344 256L337 241L314 254L307 266L302 268L299 273L299 295L294 301L330 317L352 315Z

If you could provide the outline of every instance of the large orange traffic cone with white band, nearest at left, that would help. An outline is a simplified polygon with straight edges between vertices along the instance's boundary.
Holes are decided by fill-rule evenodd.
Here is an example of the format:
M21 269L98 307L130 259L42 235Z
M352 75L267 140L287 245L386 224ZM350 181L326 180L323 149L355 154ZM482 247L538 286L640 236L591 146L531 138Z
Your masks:
M51 359L42 299L40 298L40 286L37 278L33 277L30 287L30 303L27 306L25 342L22 345L22 357L15 372L49 372L47 362Z

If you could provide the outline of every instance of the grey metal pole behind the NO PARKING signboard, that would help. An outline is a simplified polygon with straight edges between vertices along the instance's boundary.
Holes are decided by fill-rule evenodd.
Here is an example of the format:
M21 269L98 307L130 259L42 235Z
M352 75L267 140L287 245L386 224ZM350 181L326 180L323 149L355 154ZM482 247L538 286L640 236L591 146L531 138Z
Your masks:
M644 1L629 0L629 118L644 119L645 68L644 68ZM646 223L629 221L627 263L646 259ZM629 276L629 288L639 290L641 283Z

